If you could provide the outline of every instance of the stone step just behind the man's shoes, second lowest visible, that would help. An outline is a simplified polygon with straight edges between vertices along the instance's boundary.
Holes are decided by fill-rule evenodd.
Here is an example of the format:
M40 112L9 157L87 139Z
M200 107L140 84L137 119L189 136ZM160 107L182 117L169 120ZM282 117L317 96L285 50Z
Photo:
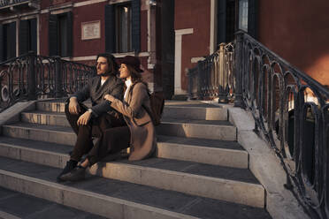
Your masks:
M0 138L0 155L58 168L65 166L69 159L67 152L72 148L60 146L57 150L55 146L50 149L50 145L43 146L42 142L34 141L8 143L12 141ZM100 162L90 169L90 173L206 198L264 207L264 188L247 169L149 158L138 162L128 162L126 159Z

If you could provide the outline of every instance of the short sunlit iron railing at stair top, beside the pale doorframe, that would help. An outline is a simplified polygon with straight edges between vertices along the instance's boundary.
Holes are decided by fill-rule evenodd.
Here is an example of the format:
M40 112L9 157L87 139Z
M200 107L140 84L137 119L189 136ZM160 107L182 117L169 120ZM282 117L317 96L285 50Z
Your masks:
M218 51L205 57L195 68L188 71L189 99L204 100L218 97L219 102L228 102L233 98L233 54L233 42L222 43Z

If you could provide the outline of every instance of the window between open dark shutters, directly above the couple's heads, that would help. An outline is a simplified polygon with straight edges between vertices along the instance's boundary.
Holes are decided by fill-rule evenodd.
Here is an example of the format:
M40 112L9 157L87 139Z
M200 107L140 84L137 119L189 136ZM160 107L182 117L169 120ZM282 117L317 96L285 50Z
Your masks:
M131 5L117 5L116 7L116 44L117 52L132 51L132 13Z

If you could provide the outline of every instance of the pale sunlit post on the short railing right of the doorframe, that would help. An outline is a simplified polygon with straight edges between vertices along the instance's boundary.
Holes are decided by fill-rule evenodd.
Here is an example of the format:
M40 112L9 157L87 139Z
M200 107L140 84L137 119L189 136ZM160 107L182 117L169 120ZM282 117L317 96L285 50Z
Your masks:
M225 71L225 60L224 60L224 47L225 47L225 43L222 42L219 44L219 60L218 60L218 103L227 103L228 99L227 99L227 91L226 91L226 71Z

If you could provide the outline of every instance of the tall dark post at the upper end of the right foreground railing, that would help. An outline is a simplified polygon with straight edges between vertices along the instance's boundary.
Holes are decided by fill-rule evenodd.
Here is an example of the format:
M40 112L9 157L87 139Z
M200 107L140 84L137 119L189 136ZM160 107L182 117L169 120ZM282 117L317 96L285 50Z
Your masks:
M236 42L235 42L235 100L234 100L234 107L244 108L244 102L242 99L242 79L243 79L243 32L238 31L236 35Z

